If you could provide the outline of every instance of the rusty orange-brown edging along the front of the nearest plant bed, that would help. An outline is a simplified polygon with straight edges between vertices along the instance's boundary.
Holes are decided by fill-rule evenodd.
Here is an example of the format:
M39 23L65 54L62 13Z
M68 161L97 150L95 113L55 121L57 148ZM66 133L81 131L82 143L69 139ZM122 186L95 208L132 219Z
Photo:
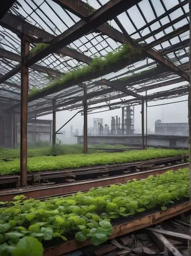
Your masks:
M127 234L133 232L138 229L146 228L148 226L160 223L164 220L168 220L177 215L182 214L190 210L190 202L181 203L174 207L170 207L165 211L155 211L152 214L146 214L141 218L134 218L134 220L123 222L119 225L113 226L113 233L109 237L109 239L113 239L118 236L122 236L123 234ZM85 242L78 242L76 240L70 240L68 242L56 245L54 247L50 247L44 250L44 256L59 256L64 253L72 252L78 250L82 247L85 247L90 244L90 240Z

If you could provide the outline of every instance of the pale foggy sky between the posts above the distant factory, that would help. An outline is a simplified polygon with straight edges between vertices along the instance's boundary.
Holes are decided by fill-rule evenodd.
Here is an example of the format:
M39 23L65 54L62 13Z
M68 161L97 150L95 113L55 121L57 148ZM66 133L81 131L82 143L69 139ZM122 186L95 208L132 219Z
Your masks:
M174 101L187 100L187 96L177 97L174 99L165 99L158 100L153 102L148 102L148 106L155 104L164 104ZM100 110L102 111L102 110ZM134 108L134 120L135 120L135 130L141 129L141 106L137 105ZM78 111L60 111L56 113L56 129L59 129L67 120L69 120L73 115L75 115ZM111 116L120 116L121 117L121 109L111 110L102 113L95 113L88 115L88 127L90 125L93 126L93 118L103 118L104 124L108 124L111 126ZM166 104L160 106L148 107L148 129L150 131L155 130L155 121L157 119L161 119L162 122L170 123L170 122L187 122L188 118L188 108L187 101ZM52 119L52 115L46 115L41 117L41 119ZM64 126L62 130L67 132L70 131L70 125L73 125L73 131L75 129L79 129L79 133L82 133L83 129L83 116L79 113L73 120L71 120L68 124Z

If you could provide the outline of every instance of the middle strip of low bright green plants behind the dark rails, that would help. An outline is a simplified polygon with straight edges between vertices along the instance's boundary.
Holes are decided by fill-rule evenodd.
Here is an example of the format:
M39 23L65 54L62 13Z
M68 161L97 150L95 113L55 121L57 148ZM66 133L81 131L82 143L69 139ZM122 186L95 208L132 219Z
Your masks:
M62 156L37 156L28 159L28 172L42 172L46 170L61 170L85 166L116 164L125 162L144 161L163 157L173 157L188 154L186 150L133 150L123 153L95 153L95 154L68 154ZM0 174L10 175L19 173L19 159L1 161Z

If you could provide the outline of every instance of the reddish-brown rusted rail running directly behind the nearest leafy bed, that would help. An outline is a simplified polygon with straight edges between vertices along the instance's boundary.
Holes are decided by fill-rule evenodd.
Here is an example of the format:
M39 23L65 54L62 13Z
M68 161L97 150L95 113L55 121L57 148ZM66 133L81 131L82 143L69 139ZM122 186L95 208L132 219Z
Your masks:
M13 197L22 194L29 198L40 199L52 196L63 196L66 194L68 195L70 193L75 193L77 191L86 191L92 187L108 186L112 184L127 182L133 179L143 179L148 177L149 175L163 174L168 170L177 170L187 166L188 163L182 163L164 168L146 170L145 172L137 172L107 178L86 180L82 182L74 182L69 184L38 185L22 188L5 189L0 191L0 201L12 201Z

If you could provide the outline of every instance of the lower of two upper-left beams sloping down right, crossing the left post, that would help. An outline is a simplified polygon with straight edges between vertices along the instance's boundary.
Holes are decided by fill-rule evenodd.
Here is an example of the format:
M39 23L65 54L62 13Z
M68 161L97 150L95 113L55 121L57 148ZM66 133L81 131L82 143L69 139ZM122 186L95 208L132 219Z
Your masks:
M18 55L16 53L13 53L13 52L10 52L10 51L7 51L7 50L5 50L3 48L0 48L0 57L20 62L20 55ZM30 68L33 69L33 70L36 70L38 72L45 73L47 75L54 75L54 76L59 76L60 77L60 75L62 74L58 70L54 70L54 69L50 69L50 68L47 68L47 67L43 67L43 66L38 65L38 64L34 64Z

